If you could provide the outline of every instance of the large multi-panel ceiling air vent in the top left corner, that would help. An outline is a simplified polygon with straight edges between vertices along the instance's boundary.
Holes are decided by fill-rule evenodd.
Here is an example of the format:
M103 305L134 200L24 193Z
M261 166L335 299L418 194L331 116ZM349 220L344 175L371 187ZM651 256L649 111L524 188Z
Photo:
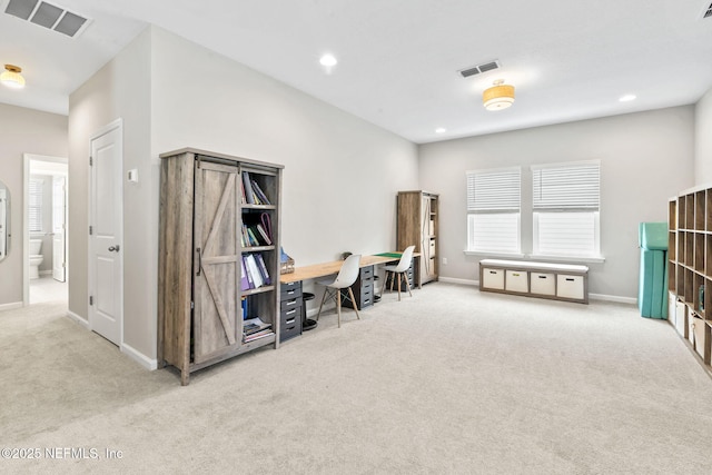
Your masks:
M40 0L10 0L4 12L71 38L89 24L85 17Z

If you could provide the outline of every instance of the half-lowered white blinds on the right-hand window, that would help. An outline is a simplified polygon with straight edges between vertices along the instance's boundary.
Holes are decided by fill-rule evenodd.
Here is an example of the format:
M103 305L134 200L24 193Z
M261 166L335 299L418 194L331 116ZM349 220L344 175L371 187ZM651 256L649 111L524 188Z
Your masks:
M599 162L532 167L532 207L535 211L599 210Z

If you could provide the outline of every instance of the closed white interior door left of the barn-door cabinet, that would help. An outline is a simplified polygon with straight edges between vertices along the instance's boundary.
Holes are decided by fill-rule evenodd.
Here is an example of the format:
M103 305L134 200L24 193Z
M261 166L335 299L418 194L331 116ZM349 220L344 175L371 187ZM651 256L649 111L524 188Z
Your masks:
M89 197L89 325L116 345L123 327L122 127L91 139Z

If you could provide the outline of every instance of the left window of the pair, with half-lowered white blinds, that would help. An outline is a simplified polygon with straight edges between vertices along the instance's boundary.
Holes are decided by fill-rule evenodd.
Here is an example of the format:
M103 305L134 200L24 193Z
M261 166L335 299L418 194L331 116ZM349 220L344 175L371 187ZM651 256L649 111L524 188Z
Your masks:
M467 250L520 254L522 170L467 171Z

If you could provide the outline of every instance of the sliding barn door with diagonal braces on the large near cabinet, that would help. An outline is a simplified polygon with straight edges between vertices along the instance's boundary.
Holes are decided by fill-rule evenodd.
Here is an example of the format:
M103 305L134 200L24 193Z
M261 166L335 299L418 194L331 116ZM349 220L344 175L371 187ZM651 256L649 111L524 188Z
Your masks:
M240 256L237 167L196 161L194 260L194 360L237 348Z

